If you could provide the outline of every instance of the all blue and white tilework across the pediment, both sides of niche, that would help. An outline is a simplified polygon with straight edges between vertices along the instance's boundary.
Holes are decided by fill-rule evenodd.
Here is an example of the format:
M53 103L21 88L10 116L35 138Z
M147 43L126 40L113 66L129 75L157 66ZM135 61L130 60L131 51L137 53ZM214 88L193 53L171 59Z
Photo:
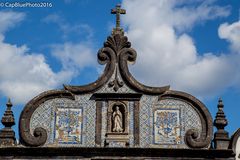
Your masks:
M102 92L109 92L109 89L111 88L107 87ZM66 98L56 98L44 102L33 113L30 122L31 133L37 127L46 129L48 139L45 146L95 147L96 104L94 100L90 100L91 96L91 94L78 95L74 101ZM107 101L102 102L101 147L104 146L106 139L108 105ZM134 102L130 101L127 105L129 146L134 147ZM60 117L69 118L72 115L71 112L81 115L72 118L76 125L70 127L70 129L74 130L75 133L74 131L68 133L67 128L69 129L69 126L67 123L62 123L65 120L60 120ZM185 133L189 129L196 129L199 132L202 130L197 111L190 104L176 99L158 101L158 96L143 95L140 100L139 116L140 147L143 148L187 148L184 142ZM63 135L68 140L60 138L62 133L60 133L59 127L66 128ZM74 143L68 143L73 141ZM113 146L118 145L114 144Z

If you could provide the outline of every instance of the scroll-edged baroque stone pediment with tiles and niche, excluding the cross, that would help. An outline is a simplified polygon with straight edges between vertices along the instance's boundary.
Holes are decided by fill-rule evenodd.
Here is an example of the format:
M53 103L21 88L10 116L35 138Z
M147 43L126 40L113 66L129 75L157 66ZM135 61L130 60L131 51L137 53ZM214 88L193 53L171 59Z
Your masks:
M212 118L204 104L169 86L139 83L128 69L136 57L124 34L109 36L98 52L99 63L106 65L98 80L46 91L25 106L19 127L22 144L210 147Z

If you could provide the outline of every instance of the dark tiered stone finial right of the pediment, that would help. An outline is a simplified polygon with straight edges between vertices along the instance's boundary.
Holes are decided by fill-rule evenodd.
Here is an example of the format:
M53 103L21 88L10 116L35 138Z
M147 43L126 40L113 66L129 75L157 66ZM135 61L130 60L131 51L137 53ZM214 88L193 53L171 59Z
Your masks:
M224 114L223 107L223 101L220 98L218 101L218 112L214 120L214 126L217 128L213 139L215 149L228 149L230 142L228 132L224 129L227 126L228 121Z

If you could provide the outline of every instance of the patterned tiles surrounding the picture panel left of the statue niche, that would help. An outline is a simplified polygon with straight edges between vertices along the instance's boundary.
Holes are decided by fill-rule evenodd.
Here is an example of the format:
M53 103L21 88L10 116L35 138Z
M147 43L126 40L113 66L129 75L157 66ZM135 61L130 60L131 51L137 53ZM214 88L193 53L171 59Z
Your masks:
M48 139L44 146L85 146L85 147L94 147L95 146L95 118L96 118L96 105L94 100L90 100L91 94L76 96L76 100L72 101L66 98L56 98L48 100L41 104L37 110L33 113L30 121L30 131L33 133L34 129L37 127L43 127L48 133ZM60 109L61 108L61 109ZM66 117L70 116L70 112L75 112L82 114L82 118L78 117L78 125L81 120L82 126L81 130L81 139L78 143L65 143L65 141L57 141L55 138L60 136L59 131L55 132L56 123L55 120L56 113L60 110L65 109ZM71 113L72 114L72 113ZM55 119L56 117L56 119ZM64 117L64 116L63 116ZM73 118L74 119L74 118ZM64 126L64 124L63 124ZM62 127L63 127L62 126ZM77 126L75 126L77 127ZM66 135L66 134L65 134ZM72 134L72 137L73 134ZM76 136L75 136L76 138Z

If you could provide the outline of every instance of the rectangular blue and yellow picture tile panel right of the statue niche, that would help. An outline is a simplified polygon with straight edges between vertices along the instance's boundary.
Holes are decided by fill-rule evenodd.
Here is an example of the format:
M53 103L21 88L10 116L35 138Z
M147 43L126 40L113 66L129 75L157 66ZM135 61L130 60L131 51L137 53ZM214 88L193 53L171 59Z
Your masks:
M180 144L180 110L157 109L153 133L155 144Z

